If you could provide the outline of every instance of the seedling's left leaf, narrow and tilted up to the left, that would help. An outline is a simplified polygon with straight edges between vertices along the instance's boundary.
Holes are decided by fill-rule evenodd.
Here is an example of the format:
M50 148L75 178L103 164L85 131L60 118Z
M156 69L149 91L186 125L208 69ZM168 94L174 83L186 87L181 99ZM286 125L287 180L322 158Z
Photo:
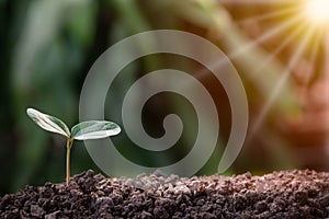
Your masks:
M34 108L27 108L26 113L32 118L32 120L34 123L36 123L43 129L63 135L66 138L70 138L70 131L69 131L68 127L60 119L58 119L54 116L49 116L47 114L41 113Z

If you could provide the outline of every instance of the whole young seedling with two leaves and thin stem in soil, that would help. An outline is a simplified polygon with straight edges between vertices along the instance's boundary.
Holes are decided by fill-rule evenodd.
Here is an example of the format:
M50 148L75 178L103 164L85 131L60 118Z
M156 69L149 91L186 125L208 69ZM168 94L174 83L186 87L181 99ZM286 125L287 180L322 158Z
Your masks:
M106 138L121 131L118 125L106 120L82 122L75 125L70 131L64 122L54 116L41 113L34 108L27 108L26 113L43 129L66 137L66 183L70 181L70 150L73 140Z

